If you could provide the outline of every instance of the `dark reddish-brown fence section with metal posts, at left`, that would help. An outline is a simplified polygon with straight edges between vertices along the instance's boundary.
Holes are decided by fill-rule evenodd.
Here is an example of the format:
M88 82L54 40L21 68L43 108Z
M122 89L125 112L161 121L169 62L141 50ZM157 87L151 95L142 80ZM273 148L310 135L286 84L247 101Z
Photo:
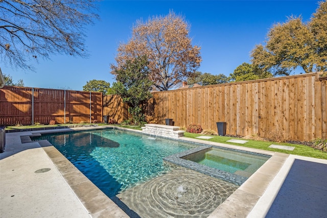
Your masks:
M0 125L102 122L102 93L5 86L0 89Z

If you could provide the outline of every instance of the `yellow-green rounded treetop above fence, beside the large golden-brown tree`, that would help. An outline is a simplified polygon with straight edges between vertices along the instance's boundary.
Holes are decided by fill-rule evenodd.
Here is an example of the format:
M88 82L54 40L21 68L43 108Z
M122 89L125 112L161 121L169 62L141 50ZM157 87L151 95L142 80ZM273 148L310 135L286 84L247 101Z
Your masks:
M264 71L254 64L242 63L232 74L229 75L230 80L234 82L258 80L272 77L268 71Z

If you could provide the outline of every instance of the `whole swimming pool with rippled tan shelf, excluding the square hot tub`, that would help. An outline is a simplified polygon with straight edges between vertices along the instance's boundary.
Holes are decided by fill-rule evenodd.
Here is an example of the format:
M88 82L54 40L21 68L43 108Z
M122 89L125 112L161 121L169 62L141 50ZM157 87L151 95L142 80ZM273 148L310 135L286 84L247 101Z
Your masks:
M48 140L131 217L204 218L248 179L183 159L216 148L201 142L116 129L32 138Z

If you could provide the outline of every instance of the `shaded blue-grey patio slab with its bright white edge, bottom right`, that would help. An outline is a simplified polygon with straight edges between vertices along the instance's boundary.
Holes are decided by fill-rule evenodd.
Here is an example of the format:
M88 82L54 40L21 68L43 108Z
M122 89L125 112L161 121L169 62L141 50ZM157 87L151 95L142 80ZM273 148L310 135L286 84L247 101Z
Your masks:
M248 217L326 217L327 160L290 155Z

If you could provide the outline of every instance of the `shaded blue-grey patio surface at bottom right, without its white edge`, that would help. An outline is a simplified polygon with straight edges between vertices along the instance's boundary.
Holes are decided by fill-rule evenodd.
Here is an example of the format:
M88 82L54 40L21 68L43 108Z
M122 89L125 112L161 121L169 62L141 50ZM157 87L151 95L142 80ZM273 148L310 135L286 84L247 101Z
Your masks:
M266 217L326 217L326 182L326 164L295 159Z

